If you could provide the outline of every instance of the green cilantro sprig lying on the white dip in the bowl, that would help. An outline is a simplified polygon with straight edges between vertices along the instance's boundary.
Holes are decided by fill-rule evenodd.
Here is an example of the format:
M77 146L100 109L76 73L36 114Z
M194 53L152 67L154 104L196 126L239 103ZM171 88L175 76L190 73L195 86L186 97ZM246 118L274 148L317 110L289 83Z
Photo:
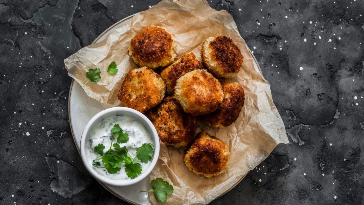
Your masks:
M115 124L111 129L111 144L108 151L104 152L105 146L103 144L98 144L94 147L94 152L96 153L96 159L92 162L92 165L99 168L104 168L110 174L115 174L120 171L120 166L125 165L126 175L132 179L138 177L142 173L142 166L136 160L142 163L148 163L151 161L154 154L154 145L151 143L144 143L141 147L137 148L137 155L133 157L126 146L120 147L119 143L126 143L129 141L129 135L123 133L120 125ZM116 140L116 143L114 142ZM111 149L113 147L114 149ZM99 158L98 155L100 155ZM101 160L101 162L99 161ZM102 164L104 166L102 166Z

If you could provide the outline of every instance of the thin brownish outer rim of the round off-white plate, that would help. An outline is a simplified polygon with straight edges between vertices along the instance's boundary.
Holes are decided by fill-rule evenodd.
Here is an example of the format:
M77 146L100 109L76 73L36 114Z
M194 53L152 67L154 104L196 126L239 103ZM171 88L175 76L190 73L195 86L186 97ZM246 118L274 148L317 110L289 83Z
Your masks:
M125 17L125 18L123 18L123 19L121 19L121 20L119 20L119 21L117 21L116 23L114 23L114 24L112 24L110 27L108 27L107 29L105 29L105 31L103 31L102 33L100 33L100 35L98 35L97 37L96 37L96 39L91 43L91 44L94 44L94 43L96 43L97 42L97 40L99 40L100 38L101 38L101 36L102 35L104 35L104 33L106 33L107 31L109 31L110 29L112 29L113 27L115 27L116 25L118 25L119 23L121 23L122 21L125 21L125 20L127 20L127 19L130 19L131 17L133 17L133 16L135 16L137 13L134 13L134 14L132 14L132 15L130 15L130 16L127 16L127 17ZM240 35L240 34L239 34ZM258 61L257 61L257 59L255 58L255 56L254 56L254 54L252 53L252 51L250 50L250 48L248 47L248 45L246 45L246 48L248 49L248 51L249 51L249 53L250 53L250 55L252 56L252 58L253 58L253 60L256 62L256 64L257 64L257 66L258 66L258 69L259 69L259 71L260 71L260 73L261 73L261 75L263 76L263 72L262 72L262 70L261 70L261 68L260 68L260 65L259 65L259 63L258 63ZM263 78L264 78L264 76L263 76ZM69 122L69 124L70 124L70 130L71 130L71 135L72 135L72 139L73 139L73 141L74 141L74 143L75 143L75 146L76 146L76 149L77 149L77 151L78 151L78 154L81 156L81 153L80 153L80 149L79 149L79 147L78 147L78 145L77 145L77 142L76 142L76 138L75 138L75 135L74 135L74 133L73 133L73 128L72 128L72 124L71 124L71 109L70 109L70 100L71 100L71 92L72 92L72 86L73 86L73 84L74 84L74 79L72 78L72 80L71 80L71 86L70 86L70 90L68 91L68 105L67 105L67 107L68 107L68 122ZM249 173L249 172L248 172ZM220 197L222 197L222 196L224 196L227 192L230 192L232 189L234 189L238 184L240 184L240 182L248 175L248 173L246 173L244 176L242 176L241 177L241 179L238 181L238 182L236 182L231 188L229 188L228 190L226 190L225 192L223 192L222 194L220 194L218 197L216 197L215 199L217 199L217 198L220 198ZM95 177L94 177L95 178ZM125 201L125 202L128 202L128 203L130 203L130 204L133 204L133 205L140 205L140 204L138 204L138 203L136 203L136 202L134 202L134 201L130 201L130 200L128 200L128 199L126 199L126 198L124 198L124 197L122 197L122 196L120 196L119 194L117 194L117 193L115 193L113 190L111 190L111 189L109 189L109 188L107 188L104 184L102 184L102 182L100 182L99 180L97 180L96 178L95 178L95 180L97 181L97 182L99 182L99 184L104 188L104 189L106 189L108 192L110 192L111 194L113 194L115 197L118 197L119 199L121 199L121 200L123 200L123 201ZM215 200L214 199L214 200Z

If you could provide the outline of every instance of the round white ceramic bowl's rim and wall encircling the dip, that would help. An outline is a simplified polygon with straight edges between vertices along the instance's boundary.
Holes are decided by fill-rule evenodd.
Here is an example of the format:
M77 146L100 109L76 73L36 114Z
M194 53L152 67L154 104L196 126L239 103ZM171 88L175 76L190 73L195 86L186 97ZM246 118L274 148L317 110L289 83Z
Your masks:
M132 180L129 180L129 181L111 180L111 179L101 176L98 172L96 172L96 170L93 169L92 165L87 160L86 153L85 153L85 147L86 147L85 142L88 139L88 134L91 131L91 128L94 127L98 122L100 122L104 118L110 117L112 115L122 115L122 114L134 117L135 119L139 120L139 122L141 122L142 125L145 126L145 129L147 131L149 131L149 133L151 134L151 138L153 139L153 143L154 143L154 155L153 155L150 166L148 167L147 170L145 170L145 172L143 172L138 177L136 177ZM98 114L96 114L94 117L92 117L90 119L90 121L87 123L85 129L83 130L83 133L81 136L80 149L81 149L82 161L83 161L84 165L86 166L86 169L97 180L101 181L102 183L112 185L112 186L128 186L128 185L138 183L139 181L141 181L142 179L147 177L150 174L150 172L153 170L155 164L158 161L158 156L159 156L159 137L158 137L157 130L155 130L155 127L153 126L152 122L150 122L150 120L145 115L140 113L139 111L128 108L128 107L112 107L112 108L99 112Z

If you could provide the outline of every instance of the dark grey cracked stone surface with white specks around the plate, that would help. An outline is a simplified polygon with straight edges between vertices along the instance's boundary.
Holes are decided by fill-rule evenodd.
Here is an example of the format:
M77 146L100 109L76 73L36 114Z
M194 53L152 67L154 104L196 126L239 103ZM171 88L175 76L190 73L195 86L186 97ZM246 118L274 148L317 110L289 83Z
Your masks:
M79 157L63 59L157 1L0 2L0 204L126 204ZM211 204L363 204L364 1L209 4L233 15L290 140Z

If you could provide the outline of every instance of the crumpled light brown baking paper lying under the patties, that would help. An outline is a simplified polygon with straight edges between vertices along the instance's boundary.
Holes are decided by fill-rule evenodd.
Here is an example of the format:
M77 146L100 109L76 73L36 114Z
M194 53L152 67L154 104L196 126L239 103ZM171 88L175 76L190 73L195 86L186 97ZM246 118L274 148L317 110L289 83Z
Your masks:
M138 67L128 55L130 40L149 25L164 27L175 35L177 57L189 52L200 56L201 44L211 36L226 35L233 39L244 55L238 75L229 81L245 90L245 103L238 119L229 127L214 129L199 123L204 129L226 142L230 150L230 166L226 173L206 178L190 172L183 162L185 148L174 148L161 143L159 160L151 179L161 177L169 181L173 194L164 204L207 204L229 190L249 170L261 163L278 143L289 143L282 119L274 106L269 83L254 69L253 59L239 35L232 16L225 10L212 9L205 0L163 0L147 11L139 12L131 22L113 31L105 40L79 50L64 60L68 74L79 84L87 81L86 71L100 68L98 83L88 82L84 90L99 100L105 108L121 106L117 94L124 76ZM112 61L118 73L110 76L107 67ZM150 194L152 204L157 204Z

